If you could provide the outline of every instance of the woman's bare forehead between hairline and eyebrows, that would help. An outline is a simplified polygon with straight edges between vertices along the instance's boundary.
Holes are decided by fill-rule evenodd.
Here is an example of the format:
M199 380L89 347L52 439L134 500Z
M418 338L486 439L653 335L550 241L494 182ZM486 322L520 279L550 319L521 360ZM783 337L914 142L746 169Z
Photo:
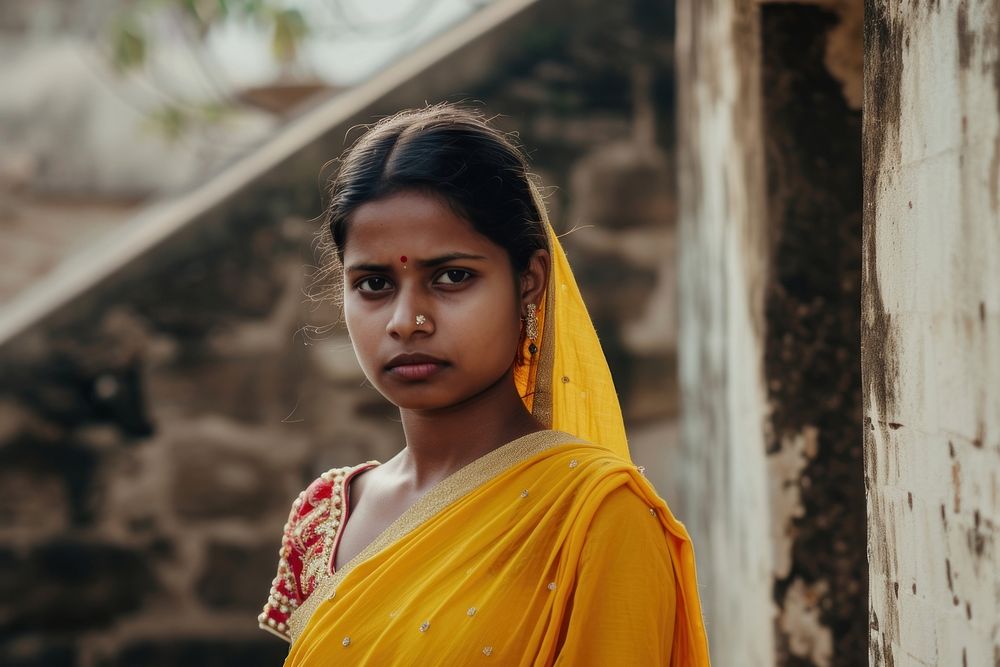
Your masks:
M401 192L359 206L351 214L346 241L345 260L417 258L455 251L504 254L444 200L421 192Z

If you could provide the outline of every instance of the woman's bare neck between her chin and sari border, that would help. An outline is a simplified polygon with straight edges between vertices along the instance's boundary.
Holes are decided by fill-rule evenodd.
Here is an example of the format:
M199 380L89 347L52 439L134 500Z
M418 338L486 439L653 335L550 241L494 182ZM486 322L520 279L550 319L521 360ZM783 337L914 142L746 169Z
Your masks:
M406 449L389 463L418 492L501 445L545 428L524 407L509 375L461 405L399 413Z

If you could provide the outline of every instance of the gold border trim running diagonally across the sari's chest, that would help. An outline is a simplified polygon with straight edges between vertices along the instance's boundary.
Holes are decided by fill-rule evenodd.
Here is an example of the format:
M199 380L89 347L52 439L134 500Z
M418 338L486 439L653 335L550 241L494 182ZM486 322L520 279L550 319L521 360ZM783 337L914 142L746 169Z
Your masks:
M328 574L317 582L316 588L309 594L309 597L288 618L288 631L292 643L305 630L309 619L312 618L320 603L333 597L337 586L357 565L402 539L448 505L483 483L536 454L562 444L585 444L585 442L562 431L535 431L501 445L436 484L372 540L361 553L332 575Z

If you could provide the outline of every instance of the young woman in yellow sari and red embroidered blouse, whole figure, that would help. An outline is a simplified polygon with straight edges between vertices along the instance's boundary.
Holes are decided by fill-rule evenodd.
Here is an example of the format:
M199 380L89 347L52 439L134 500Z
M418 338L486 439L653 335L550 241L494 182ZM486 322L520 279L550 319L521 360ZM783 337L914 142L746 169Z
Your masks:
M473 111L403 112L330 195L344 319L406 445L294 502L259 617L286 666L708 665L691 541L629 460L520 151Z

